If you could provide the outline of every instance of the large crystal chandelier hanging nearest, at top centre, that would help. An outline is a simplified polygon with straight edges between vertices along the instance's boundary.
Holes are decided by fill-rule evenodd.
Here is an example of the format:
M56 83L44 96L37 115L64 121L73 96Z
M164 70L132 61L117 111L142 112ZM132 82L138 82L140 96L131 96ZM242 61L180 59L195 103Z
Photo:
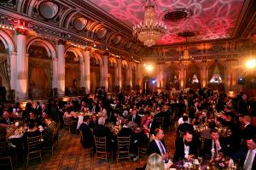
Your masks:
M167 32L166 26L155 20L154 6L155 0L146 0L144 21L137 26L133 26L133 36L148 47L153 46Z

